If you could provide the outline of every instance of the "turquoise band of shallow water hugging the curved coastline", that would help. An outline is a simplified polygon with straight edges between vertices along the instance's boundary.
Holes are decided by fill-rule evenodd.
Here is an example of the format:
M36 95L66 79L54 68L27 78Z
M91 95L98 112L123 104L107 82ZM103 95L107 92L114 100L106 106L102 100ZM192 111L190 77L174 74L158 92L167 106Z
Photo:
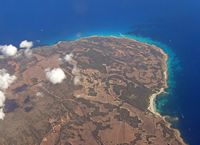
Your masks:
M151 38L148 37L142 37L142 36L137 36L137 35L127 35L123 33L114 33L114 32L90 32L86 33L85 35L82 34L82 36L74 36L74 37L68 37L63 40L76 40L82 37L89 37L89 36L115 36L115 37L122 37L122 38L130 38L133 40L137 40L143 43L147 43L150 45L156 45L157 47L161 48L164 50L164 52L168 55L168 60L167 60L167 84L168 88L165 89L165 92L158 95L155 99L155 110L156 112L160 113L163 117L166 116L168 117L169 123L172 125L172 127L179 129L178 124L179 124L179 117L180 114L178 112L175 112L171 114L171 112L167 112L165 109L163 109L163 106L166 104L170 103L170 98L171 97L176 97L175 91L176 91L176 78L175 74L180 73L182 68L180 65L180 61L176 54L173 52L172 48L170 46L167 46L164 43L161 43L159 41L155 41ZM169 118L170 117L170 118Z

